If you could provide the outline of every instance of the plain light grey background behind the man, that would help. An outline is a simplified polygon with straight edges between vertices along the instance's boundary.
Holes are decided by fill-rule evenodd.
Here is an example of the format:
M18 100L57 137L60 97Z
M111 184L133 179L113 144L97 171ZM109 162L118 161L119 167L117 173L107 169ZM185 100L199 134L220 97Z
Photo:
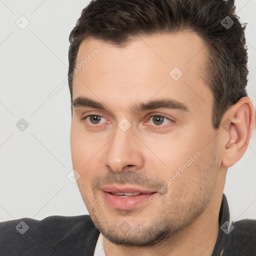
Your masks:
M0 0L0 221L88 213L76 183L66 177L72 169L68 85L46 98L66 77L68 36L88 2ZM248 23L248 94L255 107L256 1L236 5ZM24 29L15 23L26 19ZM21 118L29 124L24 131L16 127ZM232 220L256 218L255 166L253 134L242 159L227 172L224 193Z

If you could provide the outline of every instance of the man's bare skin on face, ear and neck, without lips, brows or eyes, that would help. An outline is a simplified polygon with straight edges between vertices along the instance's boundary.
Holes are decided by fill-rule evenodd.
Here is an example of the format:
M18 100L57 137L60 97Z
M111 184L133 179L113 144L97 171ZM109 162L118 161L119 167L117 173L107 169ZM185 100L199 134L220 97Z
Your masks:
M70 144L77 185L104 236L105 254L211 255L227 167L242 157L251 136L251 100L243 97L225 112L227 128L213 128L213 96L201 78L207 48L192 31L143 36L124 48L86 38L76 63L94 48L99 52L73 78L73 101L88 97L107 110L73 107ZM175 66L183 73L178 80L169 75ZM130 110L166 97L189 111ZM82 119L89 114L102 117L98 123ZM159 123L150 114L169 119ZM118 127L123 118L131 123L125 132ZM200 156L154 202L120 210L100 193L106 184L159 188L197 151ZM118 228L123 221L125 232Z

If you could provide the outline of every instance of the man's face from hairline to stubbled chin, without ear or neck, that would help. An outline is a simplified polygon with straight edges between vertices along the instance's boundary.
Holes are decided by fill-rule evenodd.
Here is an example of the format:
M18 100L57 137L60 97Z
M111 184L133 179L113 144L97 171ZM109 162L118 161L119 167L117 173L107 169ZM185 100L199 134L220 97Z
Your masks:
M191 31L143 36L123 48L93 38L80 44L72 163L92 221L113 243L164 240L214 193L221 155L213 96L201 78L203 45Z

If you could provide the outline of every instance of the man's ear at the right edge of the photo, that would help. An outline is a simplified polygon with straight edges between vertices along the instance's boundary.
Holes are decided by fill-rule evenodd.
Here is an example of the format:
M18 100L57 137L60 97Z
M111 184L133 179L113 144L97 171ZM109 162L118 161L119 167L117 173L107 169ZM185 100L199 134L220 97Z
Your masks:
M249 97L240 98L223 115L220 132L225 167L235 164L245 153L254 123L254 109Z

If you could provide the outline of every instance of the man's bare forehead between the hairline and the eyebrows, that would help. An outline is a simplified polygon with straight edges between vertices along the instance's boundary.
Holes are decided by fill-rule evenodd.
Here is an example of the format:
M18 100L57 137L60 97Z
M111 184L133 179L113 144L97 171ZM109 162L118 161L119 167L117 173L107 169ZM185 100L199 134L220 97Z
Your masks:
M125 47L86 38L77 53L73 99L89 95L128 105L134 103L132 98L145 101L169 95L187 105L212 105L201 78L206 54L203 40L192 31L141 36Z

